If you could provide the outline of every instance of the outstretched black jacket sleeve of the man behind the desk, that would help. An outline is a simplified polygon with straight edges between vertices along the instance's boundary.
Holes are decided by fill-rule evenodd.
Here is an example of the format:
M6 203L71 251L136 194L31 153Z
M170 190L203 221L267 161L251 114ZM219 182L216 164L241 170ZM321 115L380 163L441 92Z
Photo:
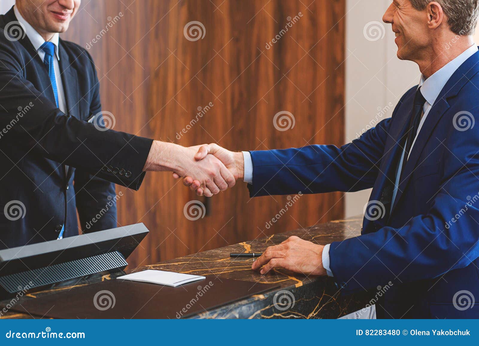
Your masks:
M24 62L15 44L19 43L8 41L1 30L1 140L137 190L152 140L114 130L100 131L93 124L63 114L25 78ZM112 167L130 173L121 176Z

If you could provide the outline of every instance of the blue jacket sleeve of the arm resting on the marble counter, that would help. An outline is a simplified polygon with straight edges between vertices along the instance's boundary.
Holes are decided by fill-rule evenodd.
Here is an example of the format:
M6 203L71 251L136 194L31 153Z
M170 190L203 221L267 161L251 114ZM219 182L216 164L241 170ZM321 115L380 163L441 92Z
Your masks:
M433 279L479 257L479 128L451 126L446 138L440 188L426 214L331 243L331 271L343 292Z

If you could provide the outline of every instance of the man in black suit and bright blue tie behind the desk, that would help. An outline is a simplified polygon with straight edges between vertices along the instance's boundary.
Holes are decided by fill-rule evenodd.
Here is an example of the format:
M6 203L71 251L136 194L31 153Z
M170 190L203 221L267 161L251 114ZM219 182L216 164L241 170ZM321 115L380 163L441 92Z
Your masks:
M137 190L146 171L194 175L206 195L235 182L212 155L104 127L90 54L58 38L79 6L17 0L0 16L0 249L78 235L76 209L83 231L116 227L114 184Z

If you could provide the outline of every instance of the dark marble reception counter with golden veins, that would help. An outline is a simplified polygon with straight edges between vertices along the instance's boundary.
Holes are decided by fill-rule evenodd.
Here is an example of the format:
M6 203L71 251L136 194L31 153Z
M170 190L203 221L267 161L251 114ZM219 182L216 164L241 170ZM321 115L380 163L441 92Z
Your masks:
M270 245L279 244L290 236L327 244L356 237L360 234L362 218L356 217L337 220L314 227L300 228L294 231L257 238L224 248L199 252L194 255L167 260L164 262L138 267L128 272L145 269L169 270L182 273L215 276L218 278L250 281L254 283L274 283L278 287L264 294L253 295L228 305L189 316L198 319L223 318L338 318L349 314L368 304L372 293L362 292L342 296L334 280L329 277L315 277L295 274L284 269L273 270L261 275L251 270L253 259L231 259L230 252L262 252ZM48 290L27 292L21 299L36 299L43 295L54 295L65 290L112 280L118 274L104 275L92 279L63 282ZM286 292L287 291L287 292ZM277 301L280 301L279 304ZM275 303L276 301L276 303ZM3 306L16 302L9 299L0 302ZM0 318L41 318L30 314L3 312Z

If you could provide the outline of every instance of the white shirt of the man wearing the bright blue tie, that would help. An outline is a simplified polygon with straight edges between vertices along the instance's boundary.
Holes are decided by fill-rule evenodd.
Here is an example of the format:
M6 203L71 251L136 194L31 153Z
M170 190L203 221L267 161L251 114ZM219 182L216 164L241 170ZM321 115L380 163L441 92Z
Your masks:
M23 24L23 27L25 28L25 34L27 35L28 39L30 42L33 44L35 50L37 51L38 55L40 56L40 59L44 61L45 59L45 52L40 49L43 43L46 41L40 35L34 28L31 26L20 14L20 12L17 10L17 7L13 7L13 11L15 12L15 16L17 17L17 20ZM58 54L58 33L55 33L53 37L50 39L50 42L55 44L55 55L57 56L57 59L53 59L53 68L55 69L55 80L57 81L57 97L58 97L58 108L60 110L67 114L67 103L65 101L65 92L63 90L63 83L61 80L61 74L60 74L60 65L58 65L58 61L60 60L60 54ZM44 90L40 90L40 92L43 92ZM54 102L54 100L52 100Z

